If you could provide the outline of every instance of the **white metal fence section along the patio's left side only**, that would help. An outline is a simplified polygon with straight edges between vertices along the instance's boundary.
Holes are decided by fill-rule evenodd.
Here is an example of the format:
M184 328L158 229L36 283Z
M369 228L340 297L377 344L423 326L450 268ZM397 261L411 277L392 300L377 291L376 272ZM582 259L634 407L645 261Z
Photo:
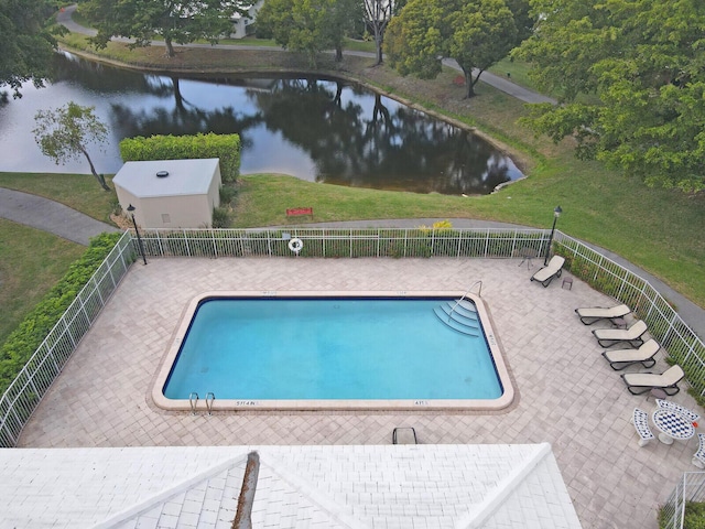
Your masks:
M0 446L17 445L24 424L117 289L133 256L132 237L126 233L2 395Z

